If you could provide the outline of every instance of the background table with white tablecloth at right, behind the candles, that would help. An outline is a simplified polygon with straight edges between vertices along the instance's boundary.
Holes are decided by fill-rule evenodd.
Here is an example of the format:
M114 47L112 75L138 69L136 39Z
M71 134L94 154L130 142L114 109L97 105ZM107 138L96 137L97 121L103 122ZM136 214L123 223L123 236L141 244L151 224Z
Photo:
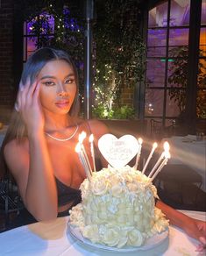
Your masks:
M197 141L195 135L164 138L170 145L171 159L167 164L184 164L202 176L202 190L206 192L206 140Z

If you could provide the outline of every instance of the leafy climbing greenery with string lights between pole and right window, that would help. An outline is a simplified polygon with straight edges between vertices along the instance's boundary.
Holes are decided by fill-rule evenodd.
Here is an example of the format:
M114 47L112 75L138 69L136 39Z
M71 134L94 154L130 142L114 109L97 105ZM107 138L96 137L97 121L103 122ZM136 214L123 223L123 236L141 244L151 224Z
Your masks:
M134 87L144 75L146 45L140 35L142 17L139 2L105 0L96 9L94 110L97 113L102 110L106 113L105 117L115 116L121 89L125 86Z

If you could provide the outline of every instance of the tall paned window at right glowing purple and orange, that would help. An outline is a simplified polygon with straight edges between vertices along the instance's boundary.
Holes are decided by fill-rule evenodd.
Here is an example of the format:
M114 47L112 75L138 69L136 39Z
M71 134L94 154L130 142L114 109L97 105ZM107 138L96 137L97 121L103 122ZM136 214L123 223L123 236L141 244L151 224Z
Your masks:
M185 108L189 11L189 0L169 0L148 15L145 117L166 126Z

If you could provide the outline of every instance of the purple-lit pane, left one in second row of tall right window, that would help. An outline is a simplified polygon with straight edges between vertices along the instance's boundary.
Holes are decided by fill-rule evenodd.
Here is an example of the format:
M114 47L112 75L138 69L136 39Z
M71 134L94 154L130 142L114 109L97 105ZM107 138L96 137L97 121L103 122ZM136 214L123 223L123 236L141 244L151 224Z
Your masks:
M166 29L148 29L147 46L166 46Z

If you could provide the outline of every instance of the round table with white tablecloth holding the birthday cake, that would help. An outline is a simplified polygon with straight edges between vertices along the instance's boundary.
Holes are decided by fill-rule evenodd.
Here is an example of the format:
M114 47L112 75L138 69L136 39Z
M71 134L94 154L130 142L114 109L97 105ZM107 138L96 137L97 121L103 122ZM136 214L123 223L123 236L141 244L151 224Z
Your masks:
M205 212L185 211L190 217L205 220ZM53 256L53 255L137 255L137 252L105 252L88 245L82 245L67 232L68 217L59 217L51 222L36 223L0 233L0 255L10 256ZM198 255L193 238L181 229L169 227L169 237L151 250L139 251L138 255Z

